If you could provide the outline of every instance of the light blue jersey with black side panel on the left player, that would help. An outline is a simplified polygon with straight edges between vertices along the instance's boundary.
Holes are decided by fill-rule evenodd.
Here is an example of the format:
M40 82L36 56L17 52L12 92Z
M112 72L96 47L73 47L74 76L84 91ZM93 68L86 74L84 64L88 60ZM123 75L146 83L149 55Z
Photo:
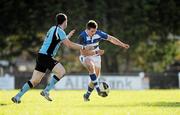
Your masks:
M59 49L60 42L67 38L64 30L59 26L52 26L45 36L39 53L54 57Z

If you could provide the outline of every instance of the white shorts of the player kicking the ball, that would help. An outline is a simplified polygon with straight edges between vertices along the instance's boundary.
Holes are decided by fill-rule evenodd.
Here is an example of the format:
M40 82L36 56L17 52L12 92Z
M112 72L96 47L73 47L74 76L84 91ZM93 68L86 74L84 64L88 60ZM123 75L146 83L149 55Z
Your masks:
M101 68L101 56L82 56L82 55L80 55L79 60L85 67L86 67L86 64L84 61L86 58L91 59L94 62L94 65L96 67Z

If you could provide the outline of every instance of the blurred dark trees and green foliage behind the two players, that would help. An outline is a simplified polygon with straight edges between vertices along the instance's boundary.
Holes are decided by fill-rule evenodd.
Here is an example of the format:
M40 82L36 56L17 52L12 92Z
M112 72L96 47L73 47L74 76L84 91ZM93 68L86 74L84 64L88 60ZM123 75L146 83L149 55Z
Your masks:
M68 16L67 32L76 29L72 41L77 41L86 22L94 19L99 29L130 44L128 51L107 42L101 44L106 52L102 58L103 72L160 72L180 55L175 41L167 38L169 33L180 34L180 3L177 0L1 0L0 4L1 59L11 60L23 51L31 55L37 52L43 36L55 24L54 16L58 12ZM67 51L71 50L62 48L60 55ZM65 58L62 61L69 66ZM77 64L70 66L77 67ZM73 71L79 72L78 69Z

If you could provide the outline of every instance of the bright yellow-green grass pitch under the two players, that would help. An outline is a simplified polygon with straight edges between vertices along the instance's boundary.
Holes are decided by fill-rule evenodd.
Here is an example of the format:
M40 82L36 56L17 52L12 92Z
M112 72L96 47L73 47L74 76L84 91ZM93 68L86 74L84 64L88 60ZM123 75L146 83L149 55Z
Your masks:
M93 92L90 102L82 90L51 91L52 102L40 91L30 90L14 104L18 90L0 90L0 115L180 115L180 90L111 90L106 98Z

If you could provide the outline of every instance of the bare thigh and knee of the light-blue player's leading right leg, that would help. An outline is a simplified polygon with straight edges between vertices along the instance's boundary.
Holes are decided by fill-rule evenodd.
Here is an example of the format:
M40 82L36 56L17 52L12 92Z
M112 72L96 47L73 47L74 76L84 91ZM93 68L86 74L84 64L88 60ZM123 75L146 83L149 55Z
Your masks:
M61 63L57 63L54 68L52 69L53 73L58 77L62 77L66 71Z

